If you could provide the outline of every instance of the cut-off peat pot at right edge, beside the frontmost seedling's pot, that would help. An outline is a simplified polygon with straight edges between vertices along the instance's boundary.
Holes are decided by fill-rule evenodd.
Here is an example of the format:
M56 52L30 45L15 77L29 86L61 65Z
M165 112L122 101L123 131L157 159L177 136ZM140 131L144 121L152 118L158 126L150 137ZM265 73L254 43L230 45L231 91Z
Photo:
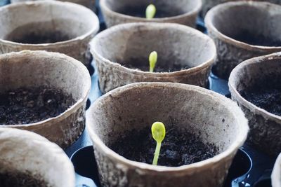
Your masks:
M281 116L251 104L241 92L259 80L281 74L281 53L255 57L239 64L229 78L232 99L244 111L249 120L249 143L268 155L277 156L281 152ZM266 78L266 79L265 79Z

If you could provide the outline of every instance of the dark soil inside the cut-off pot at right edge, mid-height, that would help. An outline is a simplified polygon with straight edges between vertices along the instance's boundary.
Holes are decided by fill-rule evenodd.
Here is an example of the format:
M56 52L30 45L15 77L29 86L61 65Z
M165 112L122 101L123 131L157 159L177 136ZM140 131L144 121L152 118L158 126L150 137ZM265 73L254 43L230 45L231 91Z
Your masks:
M242 97L270 113L281 116L281 77L268 77L256 81L241 92Z

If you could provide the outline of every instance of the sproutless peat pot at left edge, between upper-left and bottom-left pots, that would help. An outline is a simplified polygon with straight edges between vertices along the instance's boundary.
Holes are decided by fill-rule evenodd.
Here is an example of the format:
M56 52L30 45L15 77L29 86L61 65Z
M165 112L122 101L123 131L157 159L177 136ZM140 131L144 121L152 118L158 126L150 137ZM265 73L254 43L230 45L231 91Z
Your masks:
M36 132L62 148L79 138L85 126L86 100L91 87L89 72L83 64L60 53L29 50L7 53L0 55L0 80L0 95L4 98L0 102L0 127ZM32 88L29 92L36 90L38 94L46 90L46 94L33 93L34 98L28 100L26 90L18 93L22 88ZM51 94L47 95L46 88L53 89ZM63 95L58 96L57 105L53 98L56 92ZM20 94L21 97L12 99ZM60 102L66 103L65 110ZM57 109L59 113L53 113Z

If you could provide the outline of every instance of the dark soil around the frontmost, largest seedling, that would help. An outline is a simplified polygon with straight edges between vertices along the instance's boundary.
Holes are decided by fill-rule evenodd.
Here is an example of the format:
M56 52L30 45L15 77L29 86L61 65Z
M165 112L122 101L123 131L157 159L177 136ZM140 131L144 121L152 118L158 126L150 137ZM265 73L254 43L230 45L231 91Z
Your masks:
M150 128L138 132L126 132L110 145L113 151L129 160L152 164L156 142L152 138ZM178 167L200 162L218 154L213 144L204 144L200 137L189 132L178 132L174 127L166 129L166 137L162 142L157 165Z

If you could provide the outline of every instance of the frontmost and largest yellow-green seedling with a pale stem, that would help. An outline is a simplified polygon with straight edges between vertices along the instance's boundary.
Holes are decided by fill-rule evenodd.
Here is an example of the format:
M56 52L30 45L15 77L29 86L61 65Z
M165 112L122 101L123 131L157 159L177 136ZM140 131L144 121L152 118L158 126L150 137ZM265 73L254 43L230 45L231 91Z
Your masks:
M155 141L157 143L152 165L157 165L159 153L160 153L160 149L161 149L161 144L166 135L165 125L161 122L153 123L152 127L151 127L151 133L152 133L153 139L155 139Z

